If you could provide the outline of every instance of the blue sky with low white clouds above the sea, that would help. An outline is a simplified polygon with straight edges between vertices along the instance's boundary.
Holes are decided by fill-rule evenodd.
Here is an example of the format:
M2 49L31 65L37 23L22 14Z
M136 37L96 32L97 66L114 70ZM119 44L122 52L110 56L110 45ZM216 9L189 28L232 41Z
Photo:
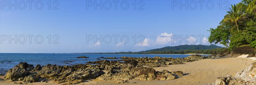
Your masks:
M95 8L95 4L100 4L101 1L102 4ZM116 9L113 2L118 2ZM37 0L31 3L30 10L29 2L17 0L16 10L15 6L9 6L15 4L15 0L1 0L0 52L118 52L184 44L209 45L207 36L210 33L207 30L216 28L230 4L239 2L241 1ZM180 6L181 4L185 5ZM101 35L102 40L95 41ZM143 43L138 43L140 41Z

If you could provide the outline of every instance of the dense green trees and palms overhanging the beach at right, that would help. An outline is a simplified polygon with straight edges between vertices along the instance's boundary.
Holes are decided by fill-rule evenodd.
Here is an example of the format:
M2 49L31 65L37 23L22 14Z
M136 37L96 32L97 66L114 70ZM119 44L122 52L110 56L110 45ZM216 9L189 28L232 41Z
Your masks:
M210 28L209 42L225 45L229 51L248 44L255 48L256 0L243 0L231 6L220 25Z

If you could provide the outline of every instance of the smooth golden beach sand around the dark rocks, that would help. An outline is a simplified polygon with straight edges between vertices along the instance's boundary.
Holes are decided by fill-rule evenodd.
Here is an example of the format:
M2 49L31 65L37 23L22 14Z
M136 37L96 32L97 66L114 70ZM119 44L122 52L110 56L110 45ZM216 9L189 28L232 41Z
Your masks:
M256 62L250 59L244 58L224 58L224 59L202 59L195 62L186 62L183 65L167 65L168 67L154 68L156 71L168 70L168 71L183 71L185 74L183 77L174 80L152 80L152 81L138 81L132 79L124 85L185 85L185 84L208 84L215 82L217 77L226 77L227 75L236 75L238 71L243 70L251 63ZM0 77L3 78L3 77ZM16 81L20 82L20 81ZM52 81L46 82L34 82L29 83L31 85L57 85ZM63 83L62 83L63 84ZM0 80L0 85L14 85L14 82ZM16 84L17 85L17 84ZM96 82L86 80L79 83L79 85L113 85L110 82Z

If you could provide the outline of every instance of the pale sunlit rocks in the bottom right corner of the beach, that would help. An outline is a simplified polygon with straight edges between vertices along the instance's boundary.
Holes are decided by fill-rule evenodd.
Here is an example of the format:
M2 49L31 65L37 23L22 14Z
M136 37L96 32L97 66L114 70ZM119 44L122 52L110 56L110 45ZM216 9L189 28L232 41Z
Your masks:
M256 62L239 71L235 77L218 77L215 85L256 85Z

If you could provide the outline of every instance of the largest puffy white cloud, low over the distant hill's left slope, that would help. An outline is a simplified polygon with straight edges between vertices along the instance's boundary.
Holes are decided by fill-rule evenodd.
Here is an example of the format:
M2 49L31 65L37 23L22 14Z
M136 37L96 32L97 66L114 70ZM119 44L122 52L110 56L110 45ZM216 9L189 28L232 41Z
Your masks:
M172 34L168 34L166 32L157 36L157 44L168 44L172 41Z

